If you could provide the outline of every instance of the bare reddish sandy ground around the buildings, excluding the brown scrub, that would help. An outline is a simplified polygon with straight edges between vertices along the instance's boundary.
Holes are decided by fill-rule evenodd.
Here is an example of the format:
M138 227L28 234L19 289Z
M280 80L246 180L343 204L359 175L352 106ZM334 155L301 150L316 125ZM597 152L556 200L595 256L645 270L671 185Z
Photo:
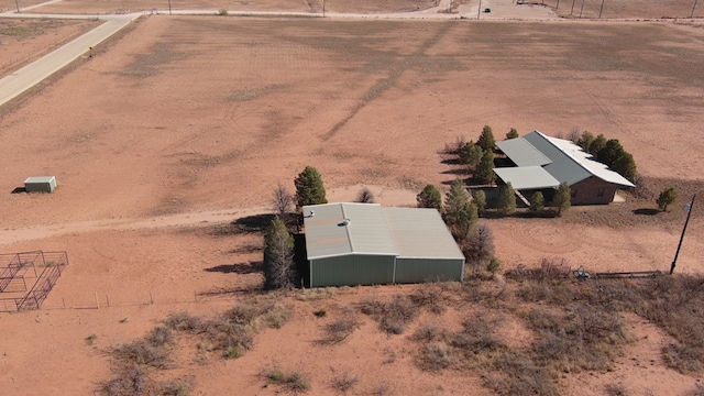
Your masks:
M213 230L265 209L276 183L293 189L306 165L322 173L330 199L351 200L370 185L382 202L413 205L426 183L453 178L438 151L459 135L476 139L484 124L497 136L512 127L557 135L576 125L619 139L646 176L697 179L703 32L674 23L139 22L0 119L0 146L10 147L0 156L3 235L30 234L0 241L3 251L66 250L72 261L47 309L0 316L9 373L0 386L90 394L110 376L110 346L168 312L231 305L237 293L197 294L255 285L261 239ZM34 175L56 175L61 186L10 194ZM597 271L667 268L680 232L674 220L629 228L569 220L492 220L505 268L544 256ZM698 272L704 229L700 218L690 227L681 268ZM373 290L405 289L350 295ZM96 293L102 308L85 309ZM321 395L346 370L364 378L363 394L383 385L380 376L399 394L479 388L476 377L414 369L409 344L388 341L372 321L344 348L308 353L319 306L293 304L297 319L263 332L251 354L207 367L184 361L180 370L205 394L273 394L257 373L274 363L302 367ZM296 337L278 343L282 331ZM94 333L95 349L85 343ZM635 373L626 377L644 371ZM675 389L680 380L667 384ZM676 389L689 391L688 381Z

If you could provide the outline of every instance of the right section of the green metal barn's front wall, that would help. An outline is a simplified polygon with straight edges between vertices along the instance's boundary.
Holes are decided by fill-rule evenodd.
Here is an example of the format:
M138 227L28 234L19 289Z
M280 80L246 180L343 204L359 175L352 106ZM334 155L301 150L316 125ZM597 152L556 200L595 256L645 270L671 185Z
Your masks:
M464 260L396 258L396 283L462 280Z

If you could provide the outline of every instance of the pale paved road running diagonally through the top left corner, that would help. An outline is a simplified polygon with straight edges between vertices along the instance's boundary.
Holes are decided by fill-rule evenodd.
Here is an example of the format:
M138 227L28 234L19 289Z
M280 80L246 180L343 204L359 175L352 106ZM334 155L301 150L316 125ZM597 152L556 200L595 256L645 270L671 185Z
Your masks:
M0 106L16 98L43 79L66 67L76 58L89 52L89 47L102 43L105 40L129 25L142 13L125 15L100 16L105 22L90 32L56 48L45 56L22 67L11 75L0 79ZM55 18L55 19L96 19L94 15L47 15L47 14L2 14L2 18Z

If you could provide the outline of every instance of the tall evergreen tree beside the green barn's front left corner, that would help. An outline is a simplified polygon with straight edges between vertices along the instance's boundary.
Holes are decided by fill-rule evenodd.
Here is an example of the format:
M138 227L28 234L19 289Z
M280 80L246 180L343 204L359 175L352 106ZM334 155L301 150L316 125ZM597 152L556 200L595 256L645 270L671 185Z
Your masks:
M294 238L284 221L276 217L264 235L264 287L290 287L296 278Z

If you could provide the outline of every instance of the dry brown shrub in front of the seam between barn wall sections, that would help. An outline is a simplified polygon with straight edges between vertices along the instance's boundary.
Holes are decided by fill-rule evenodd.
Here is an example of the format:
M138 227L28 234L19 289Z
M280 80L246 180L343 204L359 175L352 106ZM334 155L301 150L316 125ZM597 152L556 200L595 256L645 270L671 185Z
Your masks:
M407 297L396 295L391 301L366 299L360 302L360 310L378 322L382 330L389 334L406 331L419 314L418 306Z

